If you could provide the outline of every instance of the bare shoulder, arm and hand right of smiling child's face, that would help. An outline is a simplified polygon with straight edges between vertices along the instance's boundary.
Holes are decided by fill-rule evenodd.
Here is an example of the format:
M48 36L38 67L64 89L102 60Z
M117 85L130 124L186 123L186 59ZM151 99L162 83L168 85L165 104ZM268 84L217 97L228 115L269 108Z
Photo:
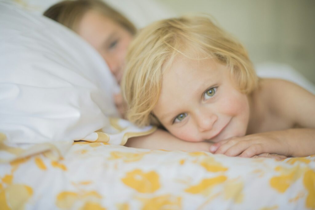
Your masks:
M240 157L262 152L287 157L315 154L313 94L284 80L266 79L250 99L248 135L218 142L211 152Z

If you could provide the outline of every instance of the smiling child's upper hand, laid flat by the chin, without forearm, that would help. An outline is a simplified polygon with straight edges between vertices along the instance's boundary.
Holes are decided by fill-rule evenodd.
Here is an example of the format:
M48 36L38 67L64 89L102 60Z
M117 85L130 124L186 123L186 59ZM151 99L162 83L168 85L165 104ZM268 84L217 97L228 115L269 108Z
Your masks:
M262 153L276 153L289 157L289 144L277 138L273 132L258 133L242 137L233 137L210 146L210 152L251 158Z

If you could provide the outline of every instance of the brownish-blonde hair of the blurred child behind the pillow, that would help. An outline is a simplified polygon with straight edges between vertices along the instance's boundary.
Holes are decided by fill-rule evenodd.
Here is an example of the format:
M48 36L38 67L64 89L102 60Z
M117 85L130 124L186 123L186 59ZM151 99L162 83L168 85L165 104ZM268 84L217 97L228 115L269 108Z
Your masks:
M135 35L135 26L126 17L101 0L61 1L48 8L43 15L77 32L79 22L89 10L100 12L100 14L112 19L132 35Z

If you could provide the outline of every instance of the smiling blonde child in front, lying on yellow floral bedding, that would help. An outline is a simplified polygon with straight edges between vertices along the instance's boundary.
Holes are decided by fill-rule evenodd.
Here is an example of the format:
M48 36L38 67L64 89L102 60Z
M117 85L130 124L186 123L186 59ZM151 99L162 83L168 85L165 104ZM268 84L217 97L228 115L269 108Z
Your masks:
M315 96L261 79L246 50L205 17L156 22L131 43L122 91L127 118L163 126L210 152L253 157L315 154Z

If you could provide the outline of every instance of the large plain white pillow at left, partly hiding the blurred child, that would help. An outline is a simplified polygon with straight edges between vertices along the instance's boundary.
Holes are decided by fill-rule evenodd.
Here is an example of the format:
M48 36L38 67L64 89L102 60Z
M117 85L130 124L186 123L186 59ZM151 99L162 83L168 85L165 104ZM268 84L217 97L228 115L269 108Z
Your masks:
M10 143L79 140L119 116L100 55L66 27L0 2L0 133Z

